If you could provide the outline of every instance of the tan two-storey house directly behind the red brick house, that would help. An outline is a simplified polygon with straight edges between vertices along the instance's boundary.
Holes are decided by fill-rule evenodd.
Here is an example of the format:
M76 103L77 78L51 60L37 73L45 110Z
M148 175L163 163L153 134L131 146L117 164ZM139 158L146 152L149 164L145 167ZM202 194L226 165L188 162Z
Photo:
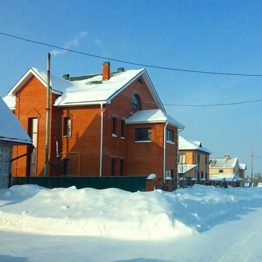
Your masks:
M209 180L210 151L202 147L201 142L191 141L179 136L179 178Z

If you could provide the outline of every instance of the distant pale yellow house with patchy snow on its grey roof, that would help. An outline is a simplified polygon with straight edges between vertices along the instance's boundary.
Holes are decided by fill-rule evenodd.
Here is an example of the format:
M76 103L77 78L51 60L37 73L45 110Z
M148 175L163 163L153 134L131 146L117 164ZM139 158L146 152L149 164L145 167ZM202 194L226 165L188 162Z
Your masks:
M210 158L209 160L209 180L226 179L228 182L237 182L243 186L244 179L242 169L246 169L244 164L239 164L237 157L230 158L224 155L222 158Z

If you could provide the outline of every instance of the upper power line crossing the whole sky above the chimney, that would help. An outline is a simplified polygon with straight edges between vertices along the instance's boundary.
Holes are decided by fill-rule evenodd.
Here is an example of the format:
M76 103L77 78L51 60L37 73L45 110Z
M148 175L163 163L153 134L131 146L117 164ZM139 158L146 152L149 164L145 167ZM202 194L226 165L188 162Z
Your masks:
M33 40L29 40L29 39L22 38L22 37L5 34L5 33L3 33L3 32L0 32L0 34L6 35L6 36L10 36L10 37L14 37L14 38L17 38L17 39L20 39L20 40L32 42L32 43L37 43L37 44L41 44L41 45L45 45L45 46L55 47L55 48L58 48L58 49L62 49L62 50L66 50L66 51L70 51L70 52L74 52L74 53L78 53L78 54L84 54L84 55L86 55L86 56L103 58L103 59L106 59L106 60L112 60L112 61L117 61L117 62L122 62L122 63L127 63L127 64L133 64L133 65L141 65L141 66L143 66L143 67L153 67L153 68L159 68L159 69L167 69L167 70L175 70L175 71L183 71L183 72L193 72L193 73L203 73L203 74L242 75L242 76L250 76L250 77L262 77L262 75L216 73L216 72L205 72L205 71L185 70L185 69L177 69L177 68L159 67L159 66L155 66L155 65L138 64L138 63L133 63L133 62L128 62L128 61L122 61L122 60L117 60L117 59L113 59L113 58L108 58L108 57L96 56L96 55L94 55L94 54L88 54L88 53L78 52L78 51L75 51L75 50L71 50L71 49L67 49L67 48L63 48L63 47L59 47L59 46L54 46L54 45L50 45L50 44L47 44L47 43L37 42L37 41L33 41Z

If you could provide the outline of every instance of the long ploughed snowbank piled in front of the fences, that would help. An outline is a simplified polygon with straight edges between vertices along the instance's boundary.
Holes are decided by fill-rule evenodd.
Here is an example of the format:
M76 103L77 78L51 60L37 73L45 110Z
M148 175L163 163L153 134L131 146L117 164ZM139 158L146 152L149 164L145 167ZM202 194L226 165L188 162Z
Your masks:
M15 185L0 190L0 228L55 235L159 240L202 232L225 215L243 211L241 200L262 198L261 188L194 185L177 194L155 190Z

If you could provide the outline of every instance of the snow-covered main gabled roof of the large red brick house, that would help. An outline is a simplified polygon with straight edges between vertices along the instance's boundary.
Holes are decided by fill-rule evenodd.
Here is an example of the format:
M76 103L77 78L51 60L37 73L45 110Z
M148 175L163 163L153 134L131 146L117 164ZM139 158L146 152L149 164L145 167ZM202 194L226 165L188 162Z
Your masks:
M25 75L8 92L8 95L15 96L16 92L32 77L47 86L46 72L37 68L30 68ZM86 75L83 77L71 77L63 79L50 75L50 92L60 95L54 106L79 106L96 105L100 103L111 103L111 100L124 90L135 79L142 76L154 98L159 109L165 111L159 96L144 68L127 70L119 73L111 73L109 80L102 81L102 74ZM77 80L81 79L81 80Z

